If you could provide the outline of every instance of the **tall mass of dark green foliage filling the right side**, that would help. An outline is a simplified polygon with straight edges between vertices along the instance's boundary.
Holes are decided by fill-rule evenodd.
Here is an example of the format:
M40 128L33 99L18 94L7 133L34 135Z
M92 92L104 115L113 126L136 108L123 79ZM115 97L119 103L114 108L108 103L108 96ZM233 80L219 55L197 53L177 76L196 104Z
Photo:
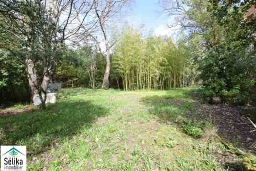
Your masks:
M255 101L256 94L255 4L237 2L186 1L186 20L178 22L188 32L194 68L200 71L203 85L212 90L205 96L245 105Z

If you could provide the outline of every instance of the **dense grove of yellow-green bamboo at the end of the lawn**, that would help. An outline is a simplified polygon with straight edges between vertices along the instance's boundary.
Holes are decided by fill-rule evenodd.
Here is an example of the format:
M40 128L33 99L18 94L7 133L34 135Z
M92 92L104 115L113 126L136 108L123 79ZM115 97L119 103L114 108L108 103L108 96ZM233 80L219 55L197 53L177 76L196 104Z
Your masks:
M175 45L171 38L144 37L130 26L118 40L113 70L121 77L124 90L164 90L190 84L190 53L184 41Z

